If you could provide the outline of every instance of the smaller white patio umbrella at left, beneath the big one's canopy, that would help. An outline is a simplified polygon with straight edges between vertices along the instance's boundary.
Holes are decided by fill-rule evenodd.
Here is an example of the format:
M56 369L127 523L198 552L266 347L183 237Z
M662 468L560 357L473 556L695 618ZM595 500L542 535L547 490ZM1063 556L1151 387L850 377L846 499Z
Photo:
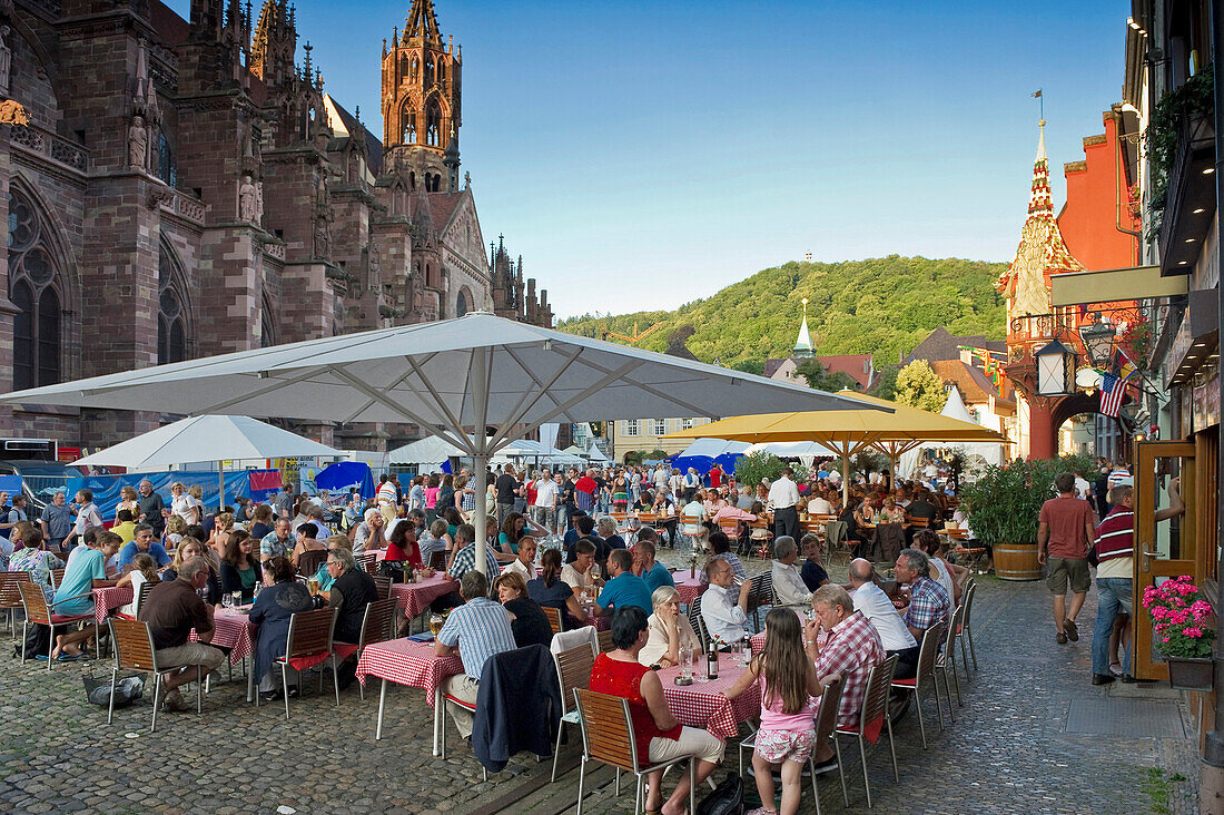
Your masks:
M344 453L246 415L193 415L142 433L72 463L152 471L193 461L215 461L217 472L220 474L218 501L224 506L225 471L220 466L223 461L319 456L344 456Z

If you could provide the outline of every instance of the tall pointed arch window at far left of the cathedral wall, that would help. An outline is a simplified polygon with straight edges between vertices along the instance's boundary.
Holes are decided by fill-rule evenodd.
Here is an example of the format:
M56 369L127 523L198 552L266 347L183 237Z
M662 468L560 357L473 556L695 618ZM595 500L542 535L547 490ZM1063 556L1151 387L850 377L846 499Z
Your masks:
M13 316L13 389L60 381L62 298L49 228L24 195L9 192L9 299Z

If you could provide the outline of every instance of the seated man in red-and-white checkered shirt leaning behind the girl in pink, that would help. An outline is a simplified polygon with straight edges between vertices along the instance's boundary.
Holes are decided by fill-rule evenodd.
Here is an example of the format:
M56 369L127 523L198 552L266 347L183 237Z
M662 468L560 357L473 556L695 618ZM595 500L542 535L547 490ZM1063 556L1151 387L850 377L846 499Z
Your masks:
M837 707L837 727L858 724L863 699L867 696L867 677L873 665L884 662L884 643L871 621L854 610L854 602L841 586L825 583L812 594L812 610L816 619L804 629L803 645L808 658L816 664L816 675L842 678L841 705ZM816 640L820 630L827 631L824 645ZM816 764L831 761L832 746L816 745Z

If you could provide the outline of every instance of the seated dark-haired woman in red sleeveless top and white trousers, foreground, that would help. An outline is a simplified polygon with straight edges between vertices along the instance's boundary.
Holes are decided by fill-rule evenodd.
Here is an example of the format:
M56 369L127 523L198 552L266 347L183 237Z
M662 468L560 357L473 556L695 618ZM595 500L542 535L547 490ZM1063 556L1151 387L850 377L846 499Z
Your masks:
M639 664L638 653L645 647L646 613L636 605L623 605L612 615L613 651L601 653L591 668L591 690L621 696L629 702L638 764L650 765L681 756L698 759L696 783L705 781L722 761L723 744L706 730L683 727L676 721L659 675ZM682 772L676 792L660 808L663 795L660 784L662 771L649 776L646 811L679 815L685 810L689 794L689 773Z

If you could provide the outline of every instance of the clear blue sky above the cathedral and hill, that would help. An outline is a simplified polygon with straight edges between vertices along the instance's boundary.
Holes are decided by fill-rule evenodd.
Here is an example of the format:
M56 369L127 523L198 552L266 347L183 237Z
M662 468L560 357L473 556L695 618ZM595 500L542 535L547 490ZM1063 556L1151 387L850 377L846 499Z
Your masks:
M187 0L171 6L186 13ZM258 6L258 0L255 2ZM464 55L463 169L559 316L674 308L802 260L1010 261L1045 93L1064 162L1121 97L1124 0L436 0ZM297 0L367 126L410 0Z

